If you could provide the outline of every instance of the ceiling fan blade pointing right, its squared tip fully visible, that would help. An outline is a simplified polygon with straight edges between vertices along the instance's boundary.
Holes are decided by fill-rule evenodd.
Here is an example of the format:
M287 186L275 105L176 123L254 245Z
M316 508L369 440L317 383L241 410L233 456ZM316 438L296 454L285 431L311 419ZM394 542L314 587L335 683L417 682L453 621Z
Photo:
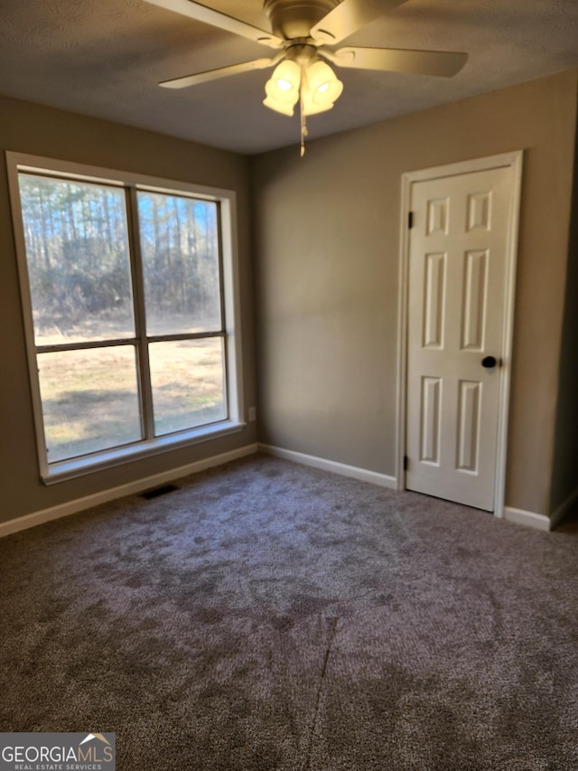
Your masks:
M320 53L340 67L439 75L442 78L451 78L468 61L467 53L401 48L340 48L329 55L326 51Z

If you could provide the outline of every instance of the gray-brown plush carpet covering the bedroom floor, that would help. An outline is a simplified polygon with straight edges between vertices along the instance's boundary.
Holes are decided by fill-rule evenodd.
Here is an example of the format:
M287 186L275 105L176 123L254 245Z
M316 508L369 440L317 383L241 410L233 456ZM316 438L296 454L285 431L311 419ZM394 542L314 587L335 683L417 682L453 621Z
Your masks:
M0 730L122 771L578 768L578 533L267 456L0 541Z

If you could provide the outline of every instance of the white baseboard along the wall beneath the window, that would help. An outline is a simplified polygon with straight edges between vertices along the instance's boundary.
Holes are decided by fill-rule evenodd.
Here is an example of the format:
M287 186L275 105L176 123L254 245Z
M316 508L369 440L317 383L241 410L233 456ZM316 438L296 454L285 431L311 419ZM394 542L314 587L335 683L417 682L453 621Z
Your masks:
M43 524L44 522L58 520L61 517L69 516L69 514L82 512L85 509L92 508L92 506L98 506L99 503L114 501L116 498L122 498L124 495L141 493L143 490L149 490L151 487L157 487L159 484L172 482L175 479L180 479L182 476L195 474L206 468L222 465L231 460L237 460L239 457L255 455L256 451L256 444L239 447L237 450L230 450L229 452L221 453L218 456L203 458L194 463L181 465L178 468L172 468L169 471L163 471L161 474L154 474L152 476L146 476L143 479L137 479L135 482L121 484L118 487L103 490L101 493L95 493L87 495L84 498L77 498L74 501L61 503L58 506L52 506L50 509L43 509L41 512L33 512L32 514L26 514L23 517L18 517L17 519L9 520L8 522L0 522L0 538L10 535L13 532L27 530L28 528Z

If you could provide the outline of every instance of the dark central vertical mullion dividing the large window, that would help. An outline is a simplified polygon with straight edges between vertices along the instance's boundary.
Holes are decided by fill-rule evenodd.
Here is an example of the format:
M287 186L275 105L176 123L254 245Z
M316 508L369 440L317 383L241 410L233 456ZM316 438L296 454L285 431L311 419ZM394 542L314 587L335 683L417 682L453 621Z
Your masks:
M128 219L128 238L131 253L131 271L133 276L133 302L135 306L135 334L137 362L139 368L139 389L143 415L144 438L154 437L153 391L151 388L151 368L146 339L146 313L144 305L143 259L138 226L138 202L136 189L126 189L126 213Z

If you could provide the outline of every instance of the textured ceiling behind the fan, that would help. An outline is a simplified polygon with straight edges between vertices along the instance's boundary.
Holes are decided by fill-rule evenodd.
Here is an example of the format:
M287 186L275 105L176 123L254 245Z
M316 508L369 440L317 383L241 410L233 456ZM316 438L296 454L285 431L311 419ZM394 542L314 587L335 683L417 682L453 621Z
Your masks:
M261 0L203 0L268 29ZM578 0L408 0L344 44L469 52L452 79L340 70L344 91L311 137L578 66ZM297 144L298 118L262 105L267 71L188 89L159 80L271 49L142 0L0 0L0 93L257 153Z

